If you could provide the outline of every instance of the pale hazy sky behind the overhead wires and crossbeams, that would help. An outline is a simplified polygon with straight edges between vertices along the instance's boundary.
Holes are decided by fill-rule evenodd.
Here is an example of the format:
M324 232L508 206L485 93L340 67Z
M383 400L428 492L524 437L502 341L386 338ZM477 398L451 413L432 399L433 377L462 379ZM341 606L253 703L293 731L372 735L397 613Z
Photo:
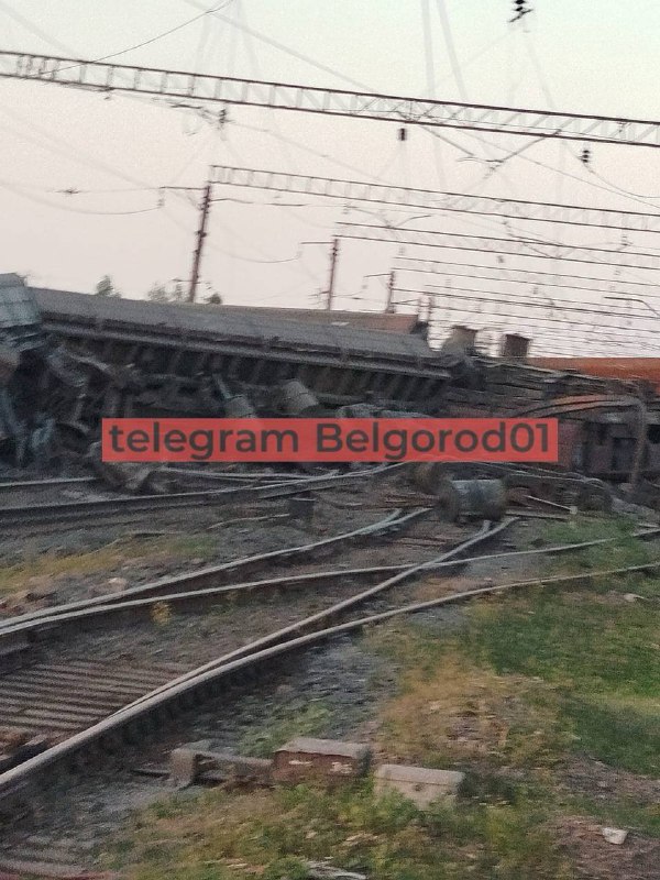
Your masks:
M150 41L220 2L0 0L0 48L98 58ZM659 118L659 0L529 0L528 6L534 11L512 25L512 0L226 0L218 14L201 15L117 61L337 88L351 88L353 80L392 95ZM290 52L274 47L272 42ZM457 65L452 65L452 57ZM132 297L143 297L156 280L187 279L199 194L168 191L163 204L158 188L201 187L213 163L479 195L659 210L658 150L592 145L591 168L585 168L579 161L582 144L547 141L530 145L494 170L488 160L524 146L527 140L510 135L475 138L455 130L440 133L451 143L415 127L409 127L408 139L402 143L392 123L243 107L229 108L229 121L219 130L191 111L173 110L144 98L105 98L3 79L0 268L29 273L35 285L84 292L94 289L108 273L124 295ZM58 191L69 188L82 191L76 196ZM623 190L636 196L626 196ZM227 302L312 305L327 284L328 243L337 223L381 222L340 201L310 199L306 207L299 207L299 198L280 197L287 202L282 207L275 204L273 193L220 187L215 196L238 201L213 206L201 273L202 295L207 289L217 290ZM385 215L389 222L408 219L409 229L513 234L493 218L472 217L463 222L443 215L410 221L406 212ZM624 244L615 230L571 231L536 223L519 226L514 232L534 233L553 242L646 252L654 249L660 254L659 237L648 233L630 233ZM403 253L398 244L344 240L337 306L381 307L386 279L366 276L389 272L402 254L458 261L466 266L471 262L502 265L487 255L468 252L461 255L408 246ZM509 257L506 265L563 274L578 268L578 264L565 265L559 260L532 263L526 257ZM631 296L637 290L626 282L657 280L657 272L648 270L601 266L591 271L582 265L579 271L596 274L617 296ZM431 280L446 289L452 284L447 276L433 279L397 273L397 286L406 290L424 290ZM459 284L468 287L465 282ZM474 285L477 290L491 289L497 295L514 289ZM516 311L520 316L519 321L515 319L518 329L542 332L548 350L559 351L559 342L568 336L571 344L578 344L578 337L573 339L575 327L559 323L549 305L552 297L576 299L576 294L537 288L516 288L516 295L535 292L548 301L544 312L538 309L526 316L525 308ZM652 308L660 309L660 299L653 306L649 298L653 288L639 289L645 290L651 306L628 304L627 308L630 314L646 310L651 324L632 320L628 327L641 327L637 344L642 345L639 353L648 353L654 345L650 331L657 318ZM603 305L602 296L587 294L586 298ZM399 299L416 301L417 295L402 294ZM447 306L447 311L439 314L446 321L462 320L465 316L460 308L472 308L465 302L454 294L451 305L448 294L438 300L440 310ZM479 308L480 326L502 328L509 321L510 308L499 309L501 317L496 307ZM604 308L623 314L626 304L613 306L609 301ZM585 320L588 326L590 319ZM612 328L607 329L610 340L619 339L622 324L626 328L616 315L591 323ZM606 350L606 340L594 337L595 342Z

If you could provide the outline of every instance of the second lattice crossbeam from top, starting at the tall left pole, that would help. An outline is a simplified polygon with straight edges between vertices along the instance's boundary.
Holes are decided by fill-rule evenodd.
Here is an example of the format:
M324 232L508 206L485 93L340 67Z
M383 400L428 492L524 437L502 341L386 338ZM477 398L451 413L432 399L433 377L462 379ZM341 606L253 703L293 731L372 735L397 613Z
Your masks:
M606 227L632 232L660 232L660 213L615 211L578 205L558 205L493 196L470 196L463 193L442 193L433 189L371 184L364 180L342 180L333 177L309 177L301 174L234 168L215 165L216 184L267 189L301 196L321 196L343 201L369 201L400 205L410 208L506 217L510 220L537 220L569 226Z

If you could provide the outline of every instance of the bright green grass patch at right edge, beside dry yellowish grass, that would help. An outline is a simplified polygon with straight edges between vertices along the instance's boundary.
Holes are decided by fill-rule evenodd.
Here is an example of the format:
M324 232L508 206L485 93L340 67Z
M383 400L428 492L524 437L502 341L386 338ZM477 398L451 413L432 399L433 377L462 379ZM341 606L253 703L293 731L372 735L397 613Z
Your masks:
M538 590L481 603L464 636L499 674L559 689L578 751L632 772L660 767L659 583L608 581L598 591ZM626 592L648 600L628 603Z

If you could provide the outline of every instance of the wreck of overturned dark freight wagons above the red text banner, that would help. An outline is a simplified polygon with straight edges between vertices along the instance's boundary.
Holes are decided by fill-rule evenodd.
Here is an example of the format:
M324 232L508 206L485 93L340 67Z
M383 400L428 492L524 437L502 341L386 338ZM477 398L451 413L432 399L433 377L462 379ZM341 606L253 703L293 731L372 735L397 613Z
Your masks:
M103 416L521 415L560 419L564 469L623 482L660 472L660 402L642 382L436 350L415 321L396 332L285 312L0 276L0 457L84 452Z

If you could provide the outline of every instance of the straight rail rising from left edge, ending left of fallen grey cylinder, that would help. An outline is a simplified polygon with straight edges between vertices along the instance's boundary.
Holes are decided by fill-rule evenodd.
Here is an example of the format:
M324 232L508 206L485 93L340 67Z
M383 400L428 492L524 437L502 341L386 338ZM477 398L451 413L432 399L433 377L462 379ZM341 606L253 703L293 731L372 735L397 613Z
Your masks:
M253 568L261 568L264 564L268 563L277 563L284 560L294 559L296 557L306 557L310 553L314 553L320 549L336 547L340 543L345 543L348 541L353 541L364 537L372 537L375 535L387 532L392 529L399 529L409 522L413 522L415 519L419 519L422 516L426 516L431 508L422 507L417 510L413 510L407 514L402 514L402 510L393 510L383 519L378 519L376 522L372 522L369 526L362 526L358 529L352 529L351 531L342 532L341 535L332 536L331 538L322 538L318 541L310 541L309 543L305 544L296 544L294 547L286 547L280 550L270 550L266 553L257 553L255 556L250 557L242 557L240 559L231 560L230 562L223 562L220 565L208 565L202 569L197 569L194 571L183 572L180 574L175 574L169 578L162 578L157 581L152 581L147 584L141 584L140 586L133 586L130 590L125 590L121 594L106 594L102 596L95 596L94 598L80 600L79 602L69 603L67 605L67 612L74 610L81 610L84 608L91 608L96 605L103 605L103 604L117 604L122 601L125 601L129 596L147 596L150 594L160 594L163 590L175 588L177 586L184 586L186 584L191 585L195 587L198 583L205 583L209 580L222 579L228 574L232 574L238 571L242 571L245 569L253 569ZM42 608L36 612L31 612L25 615L21 615L19 618L12 618L11 625L23 623L25 620L36 620L40 618L48 617L53 614L52 608ZM4 622L0 624L0 634L7 628L10 622Z

